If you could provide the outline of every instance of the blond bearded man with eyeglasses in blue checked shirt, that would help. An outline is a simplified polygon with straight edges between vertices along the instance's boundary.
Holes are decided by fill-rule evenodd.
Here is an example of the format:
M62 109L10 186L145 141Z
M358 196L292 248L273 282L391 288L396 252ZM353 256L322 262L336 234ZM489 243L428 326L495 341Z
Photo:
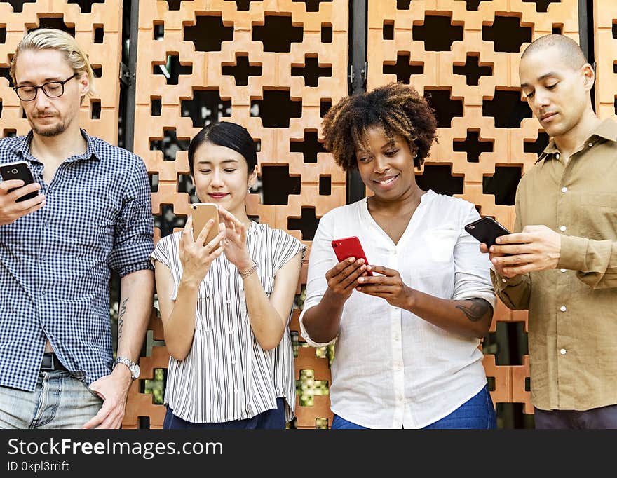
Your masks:
M0 182L0 428L119 428L154 292L147 170L80 128L93 71L72 36L27 34L11 78L32 130L0 139L0 165L25 161L34 183Z

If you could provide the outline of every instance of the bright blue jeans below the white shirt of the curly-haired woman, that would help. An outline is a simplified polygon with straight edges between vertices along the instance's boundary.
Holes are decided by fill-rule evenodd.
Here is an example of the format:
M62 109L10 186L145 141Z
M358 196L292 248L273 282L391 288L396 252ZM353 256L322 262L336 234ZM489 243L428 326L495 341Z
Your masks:
M489 388L484 385L484 388L471 397L461 407L454 410L451 414L441 418L435 423L431 423L424 427L433 429L454 429L454 428L473 428L480 430L491 430L497 428L497 418L495 407ZM367 429L355 423L345 420L334 414L332 420L332 430L348 430L348 429Z

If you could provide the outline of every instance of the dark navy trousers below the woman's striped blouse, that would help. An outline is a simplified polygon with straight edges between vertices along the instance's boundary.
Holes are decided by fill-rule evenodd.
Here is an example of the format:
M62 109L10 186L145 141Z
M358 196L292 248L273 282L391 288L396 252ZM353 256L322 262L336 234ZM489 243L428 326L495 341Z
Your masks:
M163 428L166 429L200 429L210 430L248 430L260 428L262 430L285 430L285 399L276 399L276 409L262 411L252 418L232 420L221 423L192 423L173 414L173 410L167 407Z

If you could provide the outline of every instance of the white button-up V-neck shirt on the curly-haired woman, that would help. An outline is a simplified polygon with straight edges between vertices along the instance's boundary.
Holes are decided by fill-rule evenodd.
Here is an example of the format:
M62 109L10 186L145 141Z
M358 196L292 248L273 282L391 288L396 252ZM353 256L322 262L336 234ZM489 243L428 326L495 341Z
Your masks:
M473 204L428 191L398 244L377 225L366 198L337 207L319 222L308 261L304 311L325 290L337 264L333 239L357 235L369 264L397 270L406 285L443 299L495 296L487 254L463 229L480 218ZM422 428L440 420L487 383L479 339L430 324L384 299L353 291L346 301L332 362L332 411L368 428Z

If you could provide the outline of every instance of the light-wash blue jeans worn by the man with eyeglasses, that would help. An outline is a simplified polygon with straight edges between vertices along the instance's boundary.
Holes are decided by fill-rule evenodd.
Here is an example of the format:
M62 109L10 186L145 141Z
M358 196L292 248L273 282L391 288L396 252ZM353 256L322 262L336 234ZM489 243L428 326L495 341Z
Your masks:
M102 404L68 371L41 371L34 392L0 386L0 428L81 428Z

